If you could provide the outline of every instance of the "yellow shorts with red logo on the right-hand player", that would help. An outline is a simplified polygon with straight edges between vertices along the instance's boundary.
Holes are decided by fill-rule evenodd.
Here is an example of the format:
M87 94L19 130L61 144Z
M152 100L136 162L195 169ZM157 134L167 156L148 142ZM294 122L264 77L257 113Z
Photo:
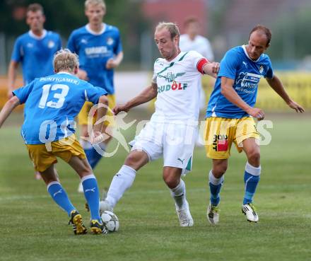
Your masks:
M209 117L204 132L206 156L213 159L225 159L230 156L234 142L237 151L242 151L242 141L249 138L259 139L259 133L252 117L228 119Z

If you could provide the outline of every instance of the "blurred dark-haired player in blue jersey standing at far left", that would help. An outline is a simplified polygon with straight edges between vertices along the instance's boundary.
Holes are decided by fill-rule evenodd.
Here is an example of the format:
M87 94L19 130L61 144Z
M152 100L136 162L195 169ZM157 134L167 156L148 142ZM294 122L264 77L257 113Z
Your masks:
M43 28L45 14L40 4L28 6L26 23L30 30L17 38L8 66L8 98L12 97L19 63L22 64L23 81L27 85L35 78L53 74L53 56L61 49L61 37ZM40 174L36 173L35 177L40 179Z

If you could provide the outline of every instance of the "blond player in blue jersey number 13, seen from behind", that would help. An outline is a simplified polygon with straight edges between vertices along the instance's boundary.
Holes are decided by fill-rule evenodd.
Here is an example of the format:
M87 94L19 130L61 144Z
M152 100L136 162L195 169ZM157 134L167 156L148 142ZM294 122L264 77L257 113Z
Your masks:
M54 57L55 74L37 78L13 91L0 112L0 127L17 105L25 103L24 123L21 134L35 170L39 171L47 185L47 191L61 209L70 217L75 234L86 233L82 216L59 182L54 164L57 157L76 170L83 185L84 195L90 207L90 231L107 233L99 212L98 183L86 154L75 137L74 117L84 102L98 103L98 119L107 112L107 92L78 79L78 57L69 50L61 50ZM91 141L100 138L102 123L96 122Z

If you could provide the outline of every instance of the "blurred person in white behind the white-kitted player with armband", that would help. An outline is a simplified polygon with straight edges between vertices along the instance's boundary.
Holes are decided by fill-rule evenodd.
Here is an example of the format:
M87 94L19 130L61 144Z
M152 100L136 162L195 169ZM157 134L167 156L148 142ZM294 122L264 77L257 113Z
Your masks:
M185 34L180 35L180 50L182 52L196 51L199 52L203 57L206 57L210 62L213 62L213 50L211 49L211 43L206 37L199 35L200 24L195 17L187 18L184 21ZM215 80L211 78L211 86L215 83ZM201 84L200 93L200 110L206 108L206 93L204 87ZM204 141L199 135L196 140L196 146L204 146Z

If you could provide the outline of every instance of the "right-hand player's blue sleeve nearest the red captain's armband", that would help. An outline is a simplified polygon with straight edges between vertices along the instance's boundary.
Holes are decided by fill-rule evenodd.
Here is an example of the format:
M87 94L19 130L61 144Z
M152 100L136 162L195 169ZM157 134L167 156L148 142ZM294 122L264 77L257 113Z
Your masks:
M225 53L225 57L221 60L221 69L218 76L225 76L230 79L235 79L237 66L240 64L240 57L235 50L229 50Z

